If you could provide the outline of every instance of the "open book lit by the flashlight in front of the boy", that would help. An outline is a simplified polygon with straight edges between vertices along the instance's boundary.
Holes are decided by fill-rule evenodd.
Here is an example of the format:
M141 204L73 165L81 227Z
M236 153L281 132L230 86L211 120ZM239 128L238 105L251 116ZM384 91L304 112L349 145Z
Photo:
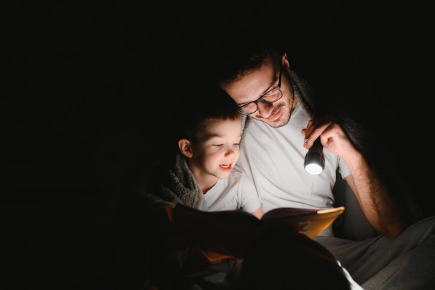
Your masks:
M170 224L191 237L191 243L207 250L223 247L233 257L243 257L249 245L268 231L289 230L313 239L343 214L344 207L331 209L272 209L258 219L246 211L200 211L177 204L166 207Z

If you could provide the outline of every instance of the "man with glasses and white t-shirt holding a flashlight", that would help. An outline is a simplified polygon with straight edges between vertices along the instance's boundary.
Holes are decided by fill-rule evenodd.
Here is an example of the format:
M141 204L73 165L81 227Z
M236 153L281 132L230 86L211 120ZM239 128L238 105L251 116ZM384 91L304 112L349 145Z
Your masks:
M329 228L316 241L364 289L433 289L427 269L435 266L435 217L421 220L412 196L381 159L381 147L348 115L333 112L329 100L310 96L284 50L262 47L254 37L221 47L213 62L215 78L247 116L237 166L253 179L264 211L334 207L338 170L379 235L350 241L334 237ZM309 175L304 156L318 138L325 169Z

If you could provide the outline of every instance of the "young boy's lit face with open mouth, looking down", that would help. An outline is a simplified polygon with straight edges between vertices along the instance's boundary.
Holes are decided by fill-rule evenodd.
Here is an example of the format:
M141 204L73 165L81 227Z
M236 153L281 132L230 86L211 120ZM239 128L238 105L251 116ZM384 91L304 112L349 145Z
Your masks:
M201 134L199 142L192 145L193 156L189 160L189 168L195 177L228 177L240 156L241 129L240 118L220 120Z

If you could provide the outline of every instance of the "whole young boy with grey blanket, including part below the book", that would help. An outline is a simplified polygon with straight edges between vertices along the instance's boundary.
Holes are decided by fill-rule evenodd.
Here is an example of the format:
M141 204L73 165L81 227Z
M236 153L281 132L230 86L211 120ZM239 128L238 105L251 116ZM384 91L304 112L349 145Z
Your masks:
M236 263L230 252L213 255L213 250L198 251L184 243L192 237L172 232L162 205L183 204L203 211L243 210L257 218L264 214L251 179L234 170L243 138L241 116L231 97L218 86L206 86L187 92L179 100L181 104L172 104L177 109L165 132L170 139L163 142L157 167L148 170L149 176L140 187L147 202L147 230L154 233L149 239L149 285L158 289L188 289L188 285L230 273ZM220 277L219 283L227 280Z

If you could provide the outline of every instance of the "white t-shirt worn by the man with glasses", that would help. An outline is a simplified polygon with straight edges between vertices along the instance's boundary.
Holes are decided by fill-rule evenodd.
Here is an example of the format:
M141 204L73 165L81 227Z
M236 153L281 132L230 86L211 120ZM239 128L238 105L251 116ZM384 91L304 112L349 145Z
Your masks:
M350 175L347 164L336 154L324 150L325 169L310 175L304 169L304 138L301 130L311 117L300 104L290 121L281 128L252 119L245 132L236 166L254 181L265 212L277 207L325 209L333 207L332 190L336 170L344 178ZM332 230L322 232L332 236Z

